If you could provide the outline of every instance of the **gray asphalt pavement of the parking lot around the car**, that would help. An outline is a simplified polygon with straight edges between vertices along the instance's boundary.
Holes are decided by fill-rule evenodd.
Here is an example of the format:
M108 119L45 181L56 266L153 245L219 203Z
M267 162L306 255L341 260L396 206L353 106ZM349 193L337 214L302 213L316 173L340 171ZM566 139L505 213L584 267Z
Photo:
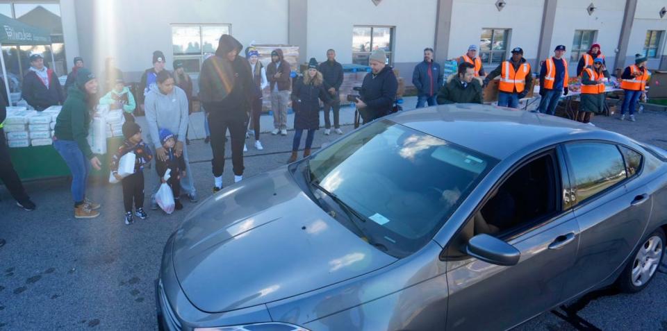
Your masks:
M645 112L634 123L596 117L593 123L667 148L667 113ZM292 135L263 135L264 151L255 151L249 139L245 176L285 164ZM336 138L320 130L313 146ZM203 140L189 148L203 199L212 194L211 149ZM149 191L158 179L153 169L146 173ZM225 171L224 184L232 177ZM34 212L15 207L0 188L0 330L156 330L154 280L163 246L194 205L185 201L185 209L171 215L149 210L149 219L125 226L119 185L90 185L88 195L103 207L101 217L88 220L74 219L66 179L29 182L26 189L38 204ZM640 294L599 291L516 330L667 330L665 269Z

